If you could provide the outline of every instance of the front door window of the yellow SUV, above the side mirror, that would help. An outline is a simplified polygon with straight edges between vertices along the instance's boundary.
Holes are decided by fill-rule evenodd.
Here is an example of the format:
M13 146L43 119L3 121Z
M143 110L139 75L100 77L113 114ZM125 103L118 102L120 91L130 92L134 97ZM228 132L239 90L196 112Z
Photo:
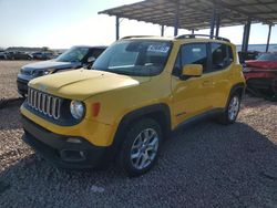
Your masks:
M207 69L206 43L191 43L181 46L173 69L173 75L179 76L182 67L186 64L202 64L203 71Z

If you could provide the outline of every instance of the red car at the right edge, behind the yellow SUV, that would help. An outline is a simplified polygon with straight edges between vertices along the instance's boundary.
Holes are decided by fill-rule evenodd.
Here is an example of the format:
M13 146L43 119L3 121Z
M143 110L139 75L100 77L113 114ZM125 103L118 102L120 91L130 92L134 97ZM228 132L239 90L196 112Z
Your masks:
M246 61L244 75L247 89L254 94L277 94L277 53L263 53L257 60Z

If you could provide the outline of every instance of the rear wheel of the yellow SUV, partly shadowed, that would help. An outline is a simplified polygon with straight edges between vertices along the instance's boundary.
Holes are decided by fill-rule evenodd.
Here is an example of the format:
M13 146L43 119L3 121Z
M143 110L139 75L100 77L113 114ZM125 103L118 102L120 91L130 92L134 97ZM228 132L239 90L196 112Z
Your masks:
M234 124L236 122L239 108L240 108L242 96L238 93L234 93L225 107L225 111L218 117L218 122L225 125Z

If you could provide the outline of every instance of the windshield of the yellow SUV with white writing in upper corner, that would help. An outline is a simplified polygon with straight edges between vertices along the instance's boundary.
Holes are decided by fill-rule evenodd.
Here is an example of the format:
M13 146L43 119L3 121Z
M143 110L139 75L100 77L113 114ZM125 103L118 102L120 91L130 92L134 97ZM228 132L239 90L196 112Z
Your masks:
M171 51L171 42L132 40L107 48L92 69L134 76L160 74Z

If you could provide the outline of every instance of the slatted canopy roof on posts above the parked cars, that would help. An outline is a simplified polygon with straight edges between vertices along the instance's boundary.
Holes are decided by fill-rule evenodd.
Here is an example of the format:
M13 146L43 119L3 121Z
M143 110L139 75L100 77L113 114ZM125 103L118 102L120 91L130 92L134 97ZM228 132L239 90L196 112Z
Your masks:
M174 27L177 0L144 0L100 11L131 20ZM253 22L277 23L276 0L179 0L179 27L187 30L209 28L212 13L220 15L220 27Z

